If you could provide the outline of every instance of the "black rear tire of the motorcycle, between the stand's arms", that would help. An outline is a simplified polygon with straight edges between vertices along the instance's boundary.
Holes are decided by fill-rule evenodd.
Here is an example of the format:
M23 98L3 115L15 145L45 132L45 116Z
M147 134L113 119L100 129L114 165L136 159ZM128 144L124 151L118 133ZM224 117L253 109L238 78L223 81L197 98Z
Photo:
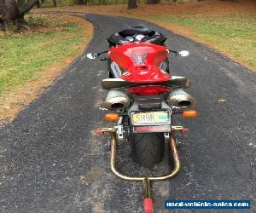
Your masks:
M131 158L137 164L152 167L160 163L165 153L163 133L131 134Z

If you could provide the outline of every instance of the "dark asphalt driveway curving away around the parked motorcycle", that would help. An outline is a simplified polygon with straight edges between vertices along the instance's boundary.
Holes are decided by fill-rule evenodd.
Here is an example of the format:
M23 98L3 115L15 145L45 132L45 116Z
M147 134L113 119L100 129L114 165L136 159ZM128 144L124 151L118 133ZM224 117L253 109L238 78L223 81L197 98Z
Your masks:
M113 176L107 138L93 133L106 125L99 107L106 95L100 82L108 73L105 62L85 57L107 49L106 38L129 26L148 26L164 33L172 49L189 50L187 58L170 56L171 70L192 80L188 91L198 100L200 113L184 122L177 118L177 124L190 129L179 149L183 169L172 180L154 184L155 212L168 212L163 210L165 199L251 199L255 204L255 72L143 20L99 14L86 19L95 32L84 55L11 124L0 128L0 212L142 210L141 184ZM119 168L148 173L132 164L128 150L125 146L119 151ZM164 164L154 173L161 170L166 170Z

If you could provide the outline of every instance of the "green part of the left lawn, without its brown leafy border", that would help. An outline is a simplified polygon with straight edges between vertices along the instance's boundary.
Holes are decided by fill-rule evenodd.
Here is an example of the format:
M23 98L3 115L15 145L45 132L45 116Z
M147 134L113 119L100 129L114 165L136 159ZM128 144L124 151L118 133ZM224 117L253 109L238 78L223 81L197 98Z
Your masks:
M37 78L48 66L77 55L78 45L84 42L81 26L77 24L49 24L46 18L29 20L29 23L58 28L0 37L0 96Z

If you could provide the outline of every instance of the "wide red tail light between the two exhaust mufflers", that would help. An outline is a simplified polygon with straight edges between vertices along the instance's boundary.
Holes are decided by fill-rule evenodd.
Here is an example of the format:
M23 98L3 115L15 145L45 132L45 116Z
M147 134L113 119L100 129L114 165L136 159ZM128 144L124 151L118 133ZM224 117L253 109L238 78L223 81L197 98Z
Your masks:
M140 86L127 89L127 92L136 95L160 95L161 93L170 92L170 90L165 86Z

